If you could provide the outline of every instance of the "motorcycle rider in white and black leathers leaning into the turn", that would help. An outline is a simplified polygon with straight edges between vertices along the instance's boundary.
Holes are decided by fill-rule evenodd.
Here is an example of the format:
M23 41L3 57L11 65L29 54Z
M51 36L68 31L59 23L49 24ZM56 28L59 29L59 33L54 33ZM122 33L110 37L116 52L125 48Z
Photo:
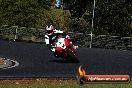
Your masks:
M53 52L53 55L57 58L59 58L59 52L55 51L55 43L58 37L61 36L66 36L66 38L70 39L70 37L67 35L66 32L56 30L52 24L48 24L46 27L46 35L45 35L45 42L47 47ZM70 42L72 44L72 42ZM78 46L74 46L74 49L77 49Z

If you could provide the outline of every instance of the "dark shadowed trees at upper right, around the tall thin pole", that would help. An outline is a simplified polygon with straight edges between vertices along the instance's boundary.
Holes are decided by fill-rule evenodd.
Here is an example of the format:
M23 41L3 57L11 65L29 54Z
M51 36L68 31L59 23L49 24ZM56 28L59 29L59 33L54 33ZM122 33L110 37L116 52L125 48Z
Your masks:
M93 19L94 0L64 0L67 9L74 18L82 18L89 25ZM131 0L95 0L93 32L96 35L132 36L132 1Z

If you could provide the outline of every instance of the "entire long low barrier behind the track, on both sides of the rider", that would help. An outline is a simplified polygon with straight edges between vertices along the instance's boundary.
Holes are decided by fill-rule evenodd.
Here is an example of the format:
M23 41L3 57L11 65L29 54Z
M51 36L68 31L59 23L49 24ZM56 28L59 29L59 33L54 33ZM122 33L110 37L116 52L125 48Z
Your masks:
M132 51L132 37L110 35L91 36L86 33L68 32L71 41L79 47L105 48ZM45 29L18 26L0 26L0 39L44 43Z

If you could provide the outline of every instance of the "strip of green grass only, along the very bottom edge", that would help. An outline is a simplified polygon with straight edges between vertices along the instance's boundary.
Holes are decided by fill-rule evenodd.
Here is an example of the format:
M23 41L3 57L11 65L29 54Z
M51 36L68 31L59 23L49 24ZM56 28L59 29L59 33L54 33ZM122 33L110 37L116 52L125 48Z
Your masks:
M129 84L84 84L55 83L55 84L0 84L0 88L132 88Z

